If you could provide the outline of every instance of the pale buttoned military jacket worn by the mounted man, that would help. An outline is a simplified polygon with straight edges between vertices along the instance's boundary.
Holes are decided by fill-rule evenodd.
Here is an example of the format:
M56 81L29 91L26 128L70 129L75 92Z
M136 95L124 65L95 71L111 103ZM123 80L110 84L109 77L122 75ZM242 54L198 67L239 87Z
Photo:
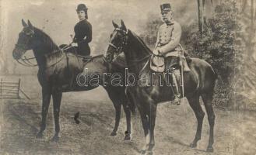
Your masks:
M180 50L178 44L181 40L181 25L172 20L170 24L164 23L160 26L157 33L156 49L159 49L160 54L168 57L175 50Z

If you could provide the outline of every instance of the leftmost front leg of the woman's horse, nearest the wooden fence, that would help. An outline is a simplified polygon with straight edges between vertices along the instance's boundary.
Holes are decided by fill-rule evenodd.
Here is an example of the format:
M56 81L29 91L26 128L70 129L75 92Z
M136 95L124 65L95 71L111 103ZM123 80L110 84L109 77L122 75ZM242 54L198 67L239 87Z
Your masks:
M37 138L42 138L44 129L46 128L47 112L51 102L51 89L42 88L42 119L40 124L40 131L37 133Z

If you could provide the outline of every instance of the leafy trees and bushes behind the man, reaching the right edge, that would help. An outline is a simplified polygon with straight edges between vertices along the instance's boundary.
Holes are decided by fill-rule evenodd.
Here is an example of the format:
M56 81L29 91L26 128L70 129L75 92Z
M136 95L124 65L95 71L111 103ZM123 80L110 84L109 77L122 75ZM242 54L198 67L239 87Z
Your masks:
M256 39L254 0L240 6L235 0L223 0L215 6L214 15L198 29L198 22L183 25L181 44L191 57L209 62L218 74L215 104L244 105L256 100ZM239 10L240 9L240 10ZM146 29L152 32L156 23L149 18ZM148 33L150 35L150 33ZM153 35L153 33L151 33ZM242 98L240 98L242 96ZM235 105L237 104L237 105Z

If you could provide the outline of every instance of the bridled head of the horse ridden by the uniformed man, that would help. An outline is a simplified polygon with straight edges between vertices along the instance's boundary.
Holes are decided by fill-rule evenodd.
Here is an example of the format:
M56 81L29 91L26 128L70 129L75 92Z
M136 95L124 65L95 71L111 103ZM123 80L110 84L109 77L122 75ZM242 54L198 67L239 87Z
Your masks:
M106 60L108 62L112 62L114 57L122 53L128 44L128 29L124 25L124 21L121 20L121 26L118 26L114 21L112 23L114 31L110 34L110 43L106 53Z

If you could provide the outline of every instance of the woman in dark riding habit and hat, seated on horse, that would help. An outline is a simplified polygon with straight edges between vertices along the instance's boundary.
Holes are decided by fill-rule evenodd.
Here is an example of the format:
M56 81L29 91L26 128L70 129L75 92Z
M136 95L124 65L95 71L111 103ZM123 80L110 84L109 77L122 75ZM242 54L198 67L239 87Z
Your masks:
M88 43L92 41L92 26L87 21L87 7L84 4L79 4L76 9L79 17L79 22L75 24L75 36L73 43L77 43L77 53L82 56L89 56L90 49Z

